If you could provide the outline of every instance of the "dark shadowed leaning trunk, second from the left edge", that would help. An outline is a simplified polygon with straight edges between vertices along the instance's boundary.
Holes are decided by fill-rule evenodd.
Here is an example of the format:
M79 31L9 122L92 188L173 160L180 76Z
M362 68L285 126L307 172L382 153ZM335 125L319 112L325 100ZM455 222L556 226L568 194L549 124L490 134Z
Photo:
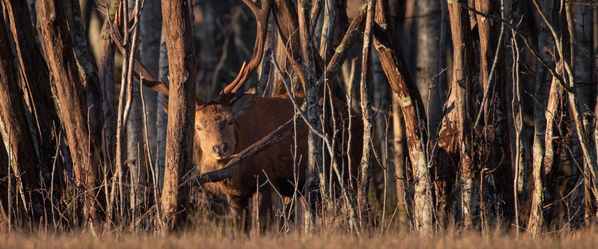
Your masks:
M10 29L19 59L20 70L25 82L24 91L28 97L33 124L37 132L40 167L49 174L58 149L60 120L52 99L50 73L41 51L38 49L37 32L29 19L29 10L22 0L4 0L10 17ZM56 160L56 168L62 168L62 161ZM50 179L49 176L44 176Z

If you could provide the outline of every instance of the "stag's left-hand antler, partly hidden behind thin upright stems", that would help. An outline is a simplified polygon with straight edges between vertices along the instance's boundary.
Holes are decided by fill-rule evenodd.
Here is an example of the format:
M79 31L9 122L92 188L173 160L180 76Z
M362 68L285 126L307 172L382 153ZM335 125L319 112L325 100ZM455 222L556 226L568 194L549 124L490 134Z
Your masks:
M118 49L121 51L121 53L125 53L124 50L124 46L123 46L123 38L120 35L120 25L118 20L120 20L120 18L118 16L120 16L122 14L122 9L120 9L118 11L117 17L114 20L114 24L108 20L108 23L110 24L110 36L112 37L112 41L114 41L114 44L117 45ZM131 13L132 15L135 15L135 11L133 11L133 13ZM108 19L110 17L108 16ZM141 62L141 60L139 60L139 56L137 56L135 54L135 63L133 63L135 66L133 67L133 79L135 79L136 82L138 82L139 84L143 85L145 88L149 88L150 90L154 90L157 91L158 93L164 94L166 96L169 95L169 86L166 84L166 82L163 81L163 79L156 79L153 75L151 75L151 73L149 73L148 69L145 67L145 65ZM143 81L141 80L143 78ZM196 104L198 106L204 106L205 102L203 102L202 99L200 99L199 97L196 97Z

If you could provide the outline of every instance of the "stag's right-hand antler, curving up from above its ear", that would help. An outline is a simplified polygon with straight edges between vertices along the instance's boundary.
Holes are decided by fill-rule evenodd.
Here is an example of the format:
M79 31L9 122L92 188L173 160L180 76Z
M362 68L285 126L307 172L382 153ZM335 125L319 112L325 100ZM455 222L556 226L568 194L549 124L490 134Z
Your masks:
M266 42L266 33L268 29L268 19L270 17L270 1L269 0L243 0L245 4L254 13L257 21L257 36L255 36L254 51L249 63L243 63L239 75L233 82L228 84L224 90L220 92L218 102L230 103L231 99L240 87L249 80L249 77L254 73L255 69L260 65L261 59L264 56L264 44Z

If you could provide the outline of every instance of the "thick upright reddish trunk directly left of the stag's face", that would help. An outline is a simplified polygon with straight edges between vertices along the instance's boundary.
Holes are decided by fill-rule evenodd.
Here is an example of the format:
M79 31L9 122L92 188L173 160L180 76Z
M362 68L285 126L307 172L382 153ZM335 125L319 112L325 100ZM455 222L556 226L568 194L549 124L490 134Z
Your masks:
M193 164L196 58L187 0L162 1L162 20L169 57L170 115L161 202L164 224L173 229L188 199L188 188L180 183Z

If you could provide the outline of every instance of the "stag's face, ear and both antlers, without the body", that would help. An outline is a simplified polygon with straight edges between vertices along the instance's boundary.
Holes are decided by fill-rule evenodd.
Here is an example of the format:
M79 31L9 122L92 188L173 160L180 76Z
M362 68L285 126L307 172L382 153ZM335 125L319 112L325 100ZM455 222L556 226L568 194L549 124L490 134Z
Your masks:
M227 85L219 94L218 99L212 102L204 102L196 97L196 118L195 132L200 140L202 155L211 155L216 160L227 159L237 144L234 135L234 124L238 116L246 113L253 107L255 100L252 94L243 94L234 99L235 94L249 80L259 66L264 54L264 43L268 19L270 16L269 0L243 0L251 9L257 21L257 36L255 38L254 51L249 63L243 63L239 75L233 82ZM135 13L133 13L135 14ZM118 20L118 18L116 19ZM111 36L121 51L124 51L123 39L116 29L111 29ZM169 95L169 87L162 79L152 76L138 57L135 57L135 68L133 78L146 88L158 93ZM168 103L163 103L167 112Z

